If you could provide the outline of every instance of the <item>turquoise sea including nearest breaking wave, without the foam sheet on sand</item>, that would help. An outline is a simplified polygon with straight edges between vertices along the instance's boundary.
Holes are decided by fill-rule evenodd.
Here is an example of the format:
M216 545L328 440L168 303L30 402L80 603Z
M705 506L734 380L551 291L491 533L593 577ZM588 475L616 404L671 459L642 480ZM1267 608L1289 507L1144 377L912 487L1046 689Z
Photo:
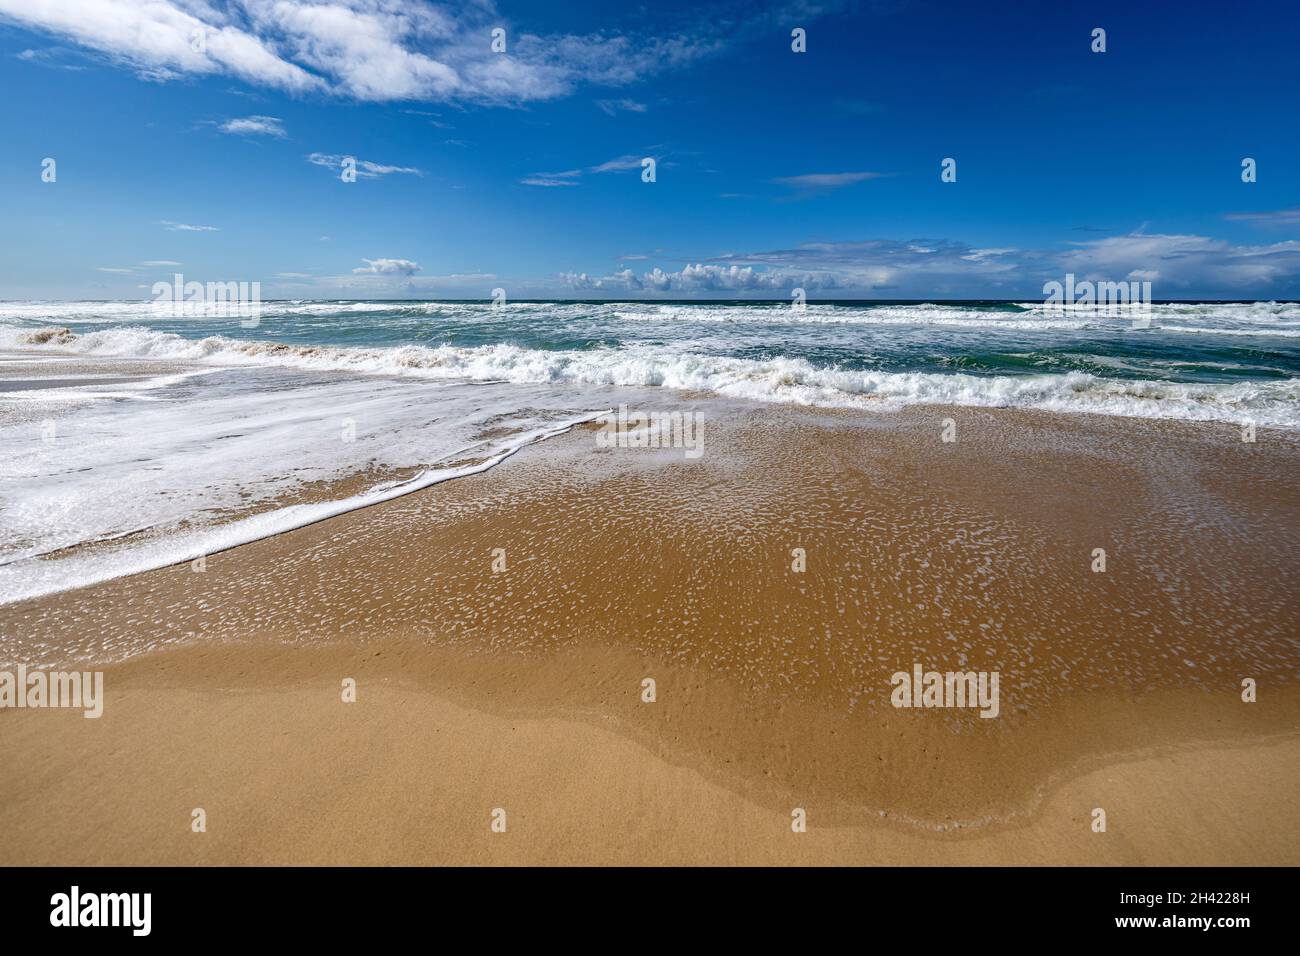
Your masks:
M0 341L465 381L663 386L1300 424L1300 306L1164 303L1149 326L1037 303L269 302L256 328L151 303L6 303Z

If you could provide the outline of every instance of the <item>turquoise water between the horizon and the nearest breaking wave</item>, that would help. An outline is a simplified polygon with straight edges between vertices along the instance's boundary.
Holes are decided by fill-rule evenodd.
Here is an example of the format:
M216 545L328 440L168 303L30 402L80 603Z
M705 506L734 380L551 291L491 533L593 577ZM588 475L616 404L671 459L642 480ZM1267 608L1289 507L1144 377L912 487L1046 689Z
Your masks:
M1287 380L1300 375L1300 306L1153 306L1152 328L1127 319L1054 316L1010 302L272 302L260 325L152 317L147 303L0 306L0 323L75 332L139 326L186 339L395 349L512 346L550 352L673 349L820 368L968 375L1088 372L1179 382Z

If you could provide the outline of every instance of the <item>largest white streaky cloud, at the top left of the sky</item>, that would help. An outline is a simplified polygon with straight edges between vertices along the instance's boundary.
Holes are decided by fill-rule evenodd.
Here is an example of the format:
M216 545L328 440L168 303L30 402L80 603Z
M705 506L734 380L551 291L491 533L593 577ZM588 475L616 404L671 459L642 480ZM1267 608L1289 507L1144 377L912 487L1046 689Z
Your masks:
M514 105L633 83L723 46L720 33L516 34L490 0L0 0L0 20L152 81L225 74L359 100ZM490 48L497 26L504 53Z

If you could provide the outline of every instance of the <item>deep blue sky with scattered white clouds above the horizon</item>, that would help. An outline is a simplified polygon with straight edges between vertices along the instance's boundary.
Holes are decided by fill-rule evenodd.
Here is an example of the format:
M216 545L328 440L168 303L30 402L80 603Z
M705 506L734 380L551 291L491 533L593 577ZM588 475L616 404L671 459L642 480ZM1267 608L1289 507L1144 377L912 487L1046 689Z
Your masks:
M1294 0L0 0L0 299L1294 299L1297 48Z

